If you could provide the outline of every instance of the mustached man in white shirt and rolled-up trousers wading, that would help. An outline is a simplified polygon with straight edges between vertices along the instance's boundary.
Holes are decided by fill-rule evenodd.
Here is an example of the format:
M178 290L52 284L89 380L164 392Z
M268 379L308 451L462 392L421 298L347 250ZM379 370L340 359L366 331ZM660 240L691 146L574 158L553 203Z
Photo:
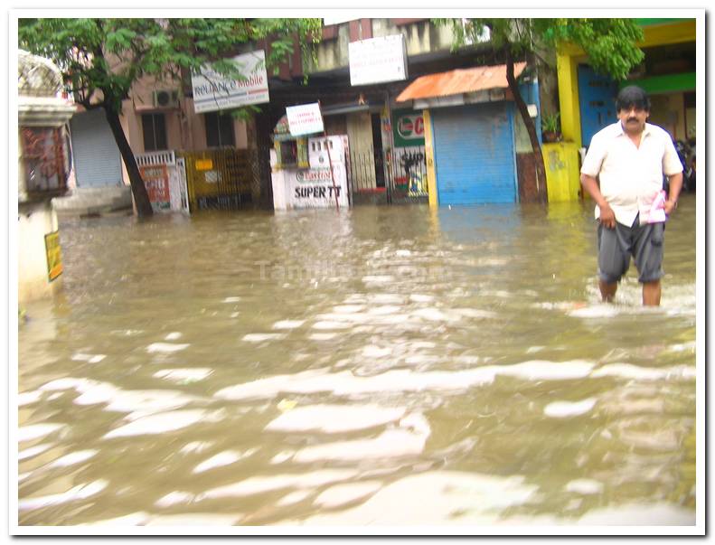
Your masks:
M581 184L596 202L598 287L608 302L616 296L633 256L643 284L643 304L661 303L665 222L657 216L663 211L671 214L677 206L682 164L671 136L645 122L650 109L643 89L621 89L616 98L618 122L593 136L581 167ZM670 194L663 211L657 211L663 174L670 180Z

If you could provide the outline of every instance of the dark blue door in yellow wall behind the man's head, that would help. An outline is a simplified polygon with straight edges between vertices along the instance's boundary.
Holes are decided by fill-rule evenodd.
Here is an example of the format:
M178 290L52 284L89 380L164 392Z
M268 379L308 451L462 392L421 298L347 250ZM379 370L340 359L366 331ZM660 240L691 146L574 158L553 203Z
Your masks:
M597 74L586 64L579 64L579 110L582 146L603 127L616 123L618 85L607 76Z

